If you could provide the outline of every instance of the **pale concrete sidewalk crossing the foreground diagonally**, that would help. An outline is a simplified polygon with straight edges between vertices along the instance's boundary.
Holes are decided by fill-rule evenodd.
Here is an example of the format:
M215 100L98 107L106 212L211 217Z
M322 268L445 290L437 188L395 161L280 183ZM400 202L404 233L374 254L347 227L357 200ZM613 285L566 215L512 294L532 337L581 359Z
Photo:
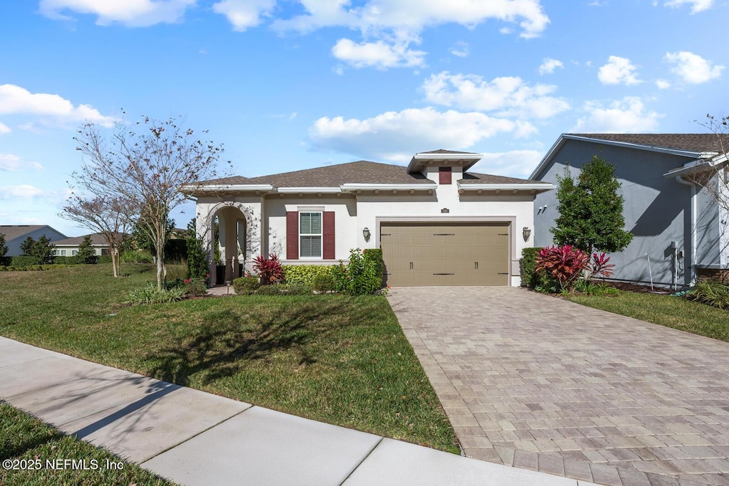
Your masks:
M593 484L254 407L4 337L0 377L0 399L182 485Z

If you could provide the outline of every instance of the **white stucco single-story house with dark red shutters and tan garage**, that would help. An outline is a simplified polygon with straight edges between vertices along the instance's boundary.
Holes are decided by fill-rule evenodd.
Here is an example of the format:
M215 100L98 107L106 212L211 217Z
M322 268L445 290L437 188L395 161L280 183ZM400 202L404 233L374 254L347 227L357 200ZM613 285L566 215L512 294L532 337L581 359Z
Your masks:
M335 264L352 248L382 248L391 286L521 283L534 246L534 197L553 184L469 172L482 156L435 150L407 167L349 162L271 176L200 181L197 231L213 271L214 223L225 281L257 255L283 264Z

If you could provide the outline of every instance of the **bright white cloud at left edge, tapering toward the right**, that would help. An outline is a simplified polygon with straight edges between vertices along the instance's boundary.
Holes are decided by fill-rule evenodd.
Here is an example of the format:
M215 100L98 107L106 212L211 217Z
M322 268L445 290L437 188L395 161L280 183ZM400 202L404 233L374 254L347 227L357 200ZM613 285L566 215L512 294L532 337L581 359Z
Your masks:
M74 106L59 95L31 93L23 87L0 85L0 114L33 114L52 117L56 123L90 122L104 127L114 125L113 117L106 117L93 106Z

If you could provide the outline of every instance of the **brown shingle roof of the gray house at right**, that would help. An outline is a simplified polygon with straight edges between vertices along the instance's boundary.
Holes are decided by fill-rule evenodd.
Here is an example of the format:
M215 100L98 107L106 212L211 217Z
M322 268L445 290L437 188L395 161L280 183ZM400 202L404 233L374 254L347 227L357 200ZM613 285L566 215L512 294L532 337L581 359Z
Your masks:
M721 152L719 137L714 133L566 133L565 135L689 152ZM724 146L729 148L729 135L723 136L722 140Z

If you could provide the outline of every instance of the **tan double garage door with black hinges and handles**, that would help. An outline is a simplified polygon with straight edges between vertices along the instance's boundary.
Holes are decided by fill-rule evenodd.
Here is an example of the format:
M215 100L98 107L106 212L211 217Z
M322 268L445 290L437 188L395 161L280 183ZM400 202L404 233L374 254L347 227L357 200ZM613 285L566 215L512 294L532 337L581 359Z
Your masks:
M380 241L388 285L509 285L508 223L383 222Z

